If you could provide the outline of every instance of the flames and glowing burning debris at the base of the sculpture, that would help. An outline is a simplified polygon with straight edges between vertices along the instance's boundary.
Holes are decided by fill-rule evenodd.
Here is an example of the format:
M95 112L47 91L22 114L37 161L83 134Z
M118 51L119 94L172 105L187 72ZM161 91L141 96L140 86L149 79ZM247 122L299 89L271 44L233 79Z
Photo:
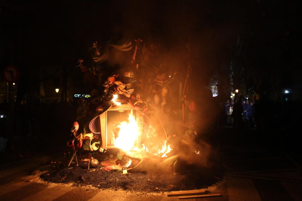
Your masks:
M117 136L114 135L114 146L119 148L117 159L121 161L121 169L128 171L156 171L156 169L169 168L173 165L178 155L171 157L172 151L169 140L160 140L158 149L149 150L143 142L138 143L138 138L142 135L139 131L135 116L131 111L127 121L120 122L117 125L119 129ZM125 172L125 171L124 171Z

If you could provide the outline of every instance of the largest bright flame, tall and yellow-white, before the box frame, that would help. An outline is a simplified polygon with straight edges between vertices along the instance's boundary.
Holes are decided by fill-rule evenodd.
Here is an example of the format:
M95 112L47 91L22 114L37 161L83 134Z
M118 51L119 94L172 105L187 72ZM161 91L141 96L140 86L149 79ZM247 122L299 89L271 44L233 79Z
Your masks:
M117 127L120 128L120 131L118 137L115 138L114 146L127 152L135 147L134 143L140 135L132 110L129 114L128 122L123 121Z

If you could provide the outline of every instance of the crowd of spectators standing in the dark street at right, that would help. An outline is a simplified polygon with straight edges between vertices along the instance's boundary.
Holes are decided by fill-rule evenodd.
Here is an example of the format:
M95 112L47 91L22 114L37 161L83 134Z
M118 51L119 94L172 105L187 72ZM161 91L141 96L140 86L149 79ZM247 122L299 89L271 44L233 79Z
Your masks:
M293 129L301 122L301 100L226 100L220 125L248 129Z

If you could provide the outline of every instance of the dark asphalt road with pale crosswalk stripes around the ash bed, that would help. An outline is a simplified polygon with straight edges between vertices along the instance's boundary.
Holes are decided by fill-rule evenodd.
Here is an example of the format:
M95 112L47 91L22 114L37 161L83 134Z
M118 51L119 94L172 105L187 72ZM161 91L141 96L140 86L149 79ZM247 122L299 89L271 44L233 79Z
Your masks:
M227 171L221 181L207 190L222 196L191 200L302 200L301 156L295 154L297 147L281 146L282 141L285 143L282 138L268 144L270 137L259 138L261 135L258 131L221 130L215 136L220 140L213 147L223 153L221 160ZM40 178L27 182L37 177L29 173L47 169L49 160L49 156L36 154L0 165L0 200L178 200L167 193L79 188L46 183Z

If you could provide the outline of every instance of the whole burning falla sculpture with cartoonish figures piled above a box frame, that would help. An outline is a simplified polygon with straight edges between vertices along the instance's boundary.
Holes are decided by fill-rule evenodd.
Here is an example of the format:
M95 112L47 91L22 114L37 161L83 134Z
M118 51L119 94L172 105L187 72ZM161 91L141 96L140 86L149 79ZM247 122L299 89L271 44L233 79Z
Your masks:
M110 168L128 171L166 169L168 166L174 167L179 156L172 155L175 154L172 142L178 143L178 140L175 128L163 113L165 105L168 105L167 100L172 94L169 84L177 72L168 73L166 68L157 69L152 65L151 61L163 52L160 51L162 48L159 48L159 42L151 39L144 41L144 44L142 39L137 39L135 42L133 57L129 61L132 69L125 70L121 67L119 71L112 72L105 82L102 81L104 103L97 108L99 113L89 123L91 134L101 136L100 143L88 139L83 146L86 150L95 150L99 147L101 152L104 149L119 149L116 155L119 165L116 162L101 162L102 165L108 166L104 168L106 170ZM131 49L131 42L124 43L122 46L115 46L112 42L108 42L103 55L95 42L91 48L95 50L94 65L110 58L109 48L126 53ZM139 49L142 49L141 61L137 62L136 54ZM80 67L81 65L82 63ZM154 72L149 72L152 69L149 68L151 65ZM190 72L189 66L190 64L187 77ZM94 74L99 71L96 67L92 69L96 69L93 71ZM187 88L186 83L187 80L183 97ZM182 112L185 120L183 97Z

